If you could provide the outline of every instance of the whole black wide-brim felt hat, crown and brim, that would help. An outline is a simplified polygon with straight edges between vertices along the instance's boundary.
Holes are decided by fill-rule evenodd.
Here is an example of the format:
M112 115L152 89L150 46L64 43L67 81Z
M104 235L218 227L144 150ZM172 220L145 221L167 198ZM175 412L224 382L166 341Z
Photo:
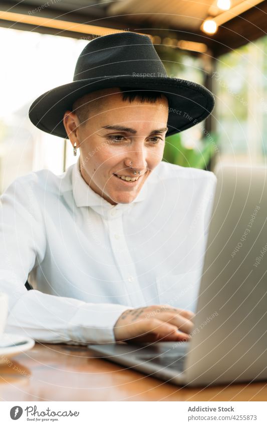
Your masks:
M214 107L214 96L204 86L167 76L148 36L124 32L89 42L78 58L73 81L39 96L30 107L30 120L41 130L68 137L64 113L85 94L111 87L162 92L169 102L166 136L204 120Z

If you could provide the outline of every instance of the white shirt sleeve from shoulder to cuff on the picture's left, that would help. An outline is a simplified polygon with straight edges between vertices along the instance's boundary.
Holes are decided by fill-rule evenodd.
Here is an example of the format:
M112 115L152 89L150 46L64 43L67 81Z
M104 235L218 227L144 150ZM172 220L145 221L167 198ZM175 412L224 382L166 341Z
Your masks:
M113 327L128 306L92 304L38 290L25 282L46 252L46 231L34 174L16 179L0 197L0 290L9 296L6 333L38 342L114 342Z

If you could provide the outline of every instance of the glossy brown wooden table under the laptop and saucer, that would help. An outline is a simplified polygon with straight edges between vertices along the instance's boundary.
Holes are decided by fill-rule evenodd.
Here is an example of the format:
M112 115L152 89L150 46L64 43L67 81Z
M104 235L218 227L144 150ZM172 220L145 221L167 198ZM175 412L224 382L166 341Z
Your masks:
M2 401L266 401L267 383L185 388L92 357L83 346L36 344L0 365Z

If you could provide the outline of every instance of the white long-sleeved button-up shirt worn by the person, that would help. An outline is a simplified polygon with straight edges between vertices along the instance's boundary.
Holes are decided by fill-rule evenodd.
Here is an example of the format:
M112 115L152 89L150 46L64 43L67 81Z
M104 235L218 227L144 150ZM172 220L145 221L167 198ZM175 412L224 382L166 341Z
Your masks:
M135 200L114 206L83 180L80 158L60 176L17 178L0 198L6 332L113 342L126 309L194 311L215 185L211 172L161 162Z

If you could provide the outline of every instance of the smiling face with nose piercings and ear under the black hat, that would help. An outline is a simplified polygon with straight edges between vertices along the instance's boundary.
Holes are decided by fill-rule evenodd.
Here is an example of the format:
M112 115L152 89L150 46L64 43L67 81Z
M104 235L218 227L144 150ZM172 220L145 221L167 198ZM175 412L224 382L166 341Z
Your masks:
M90 111L86 118L82 105ZM129 102L113 88L85 95L74 107L76 112L66 111L63 122L72 145L80 149L83 179L110 204L130 203L162 160L167 98Z

